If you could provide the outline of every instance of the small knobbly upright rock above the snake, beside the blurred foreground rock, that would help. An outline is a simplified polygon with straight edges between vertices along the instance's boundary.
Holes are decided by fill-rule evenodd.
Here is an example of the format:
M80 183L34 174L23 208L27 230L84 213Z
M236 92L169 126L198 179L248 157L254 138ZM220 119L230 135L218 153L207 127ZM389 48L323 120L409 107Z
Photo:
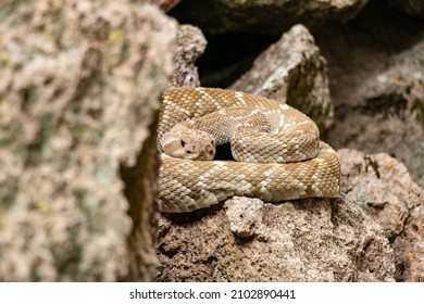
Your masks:
M192 25L180 25L177 35L178 47L171 87L200 87L196 60L204 52L207 39L202 31Z

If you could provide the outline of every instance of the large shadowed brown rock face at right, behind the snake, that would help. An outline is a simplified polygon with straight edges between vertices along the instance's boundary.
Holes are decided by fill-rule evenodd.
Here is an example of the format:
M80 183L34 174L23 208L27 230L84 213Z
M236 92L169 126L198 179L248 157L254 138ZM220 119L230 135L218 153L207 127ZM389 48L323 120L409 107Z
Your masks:
M366 30L364 30L366 28ZM328 62L336 149L387 152L424 187L424 22L371 1L351 23L315 33Z

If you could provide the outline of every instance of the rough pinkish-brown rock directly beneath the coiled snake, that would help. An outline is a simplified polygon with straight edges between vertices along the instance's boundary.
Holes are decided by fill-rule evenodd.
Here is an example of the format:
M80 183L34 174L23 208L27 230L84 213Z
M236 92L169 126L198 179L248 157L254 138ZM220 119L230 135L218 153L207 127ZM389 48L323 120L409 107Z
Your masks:
M160 281L392 281L392 251L348 199L234 198L160 221Z

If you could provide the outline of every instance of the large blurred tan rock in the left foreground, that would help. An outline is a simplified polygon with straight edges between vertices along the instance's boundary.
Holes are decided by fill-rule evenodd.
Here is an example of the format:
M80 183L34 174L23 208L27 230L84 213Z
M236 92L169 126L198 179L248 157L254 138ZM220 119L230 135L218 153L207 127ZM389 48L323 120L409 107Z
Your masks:
M175 22L72 0L7 1L0 20L0 280L152 280L154 169L150 197L127 180L130 220L120 167L142 167Z

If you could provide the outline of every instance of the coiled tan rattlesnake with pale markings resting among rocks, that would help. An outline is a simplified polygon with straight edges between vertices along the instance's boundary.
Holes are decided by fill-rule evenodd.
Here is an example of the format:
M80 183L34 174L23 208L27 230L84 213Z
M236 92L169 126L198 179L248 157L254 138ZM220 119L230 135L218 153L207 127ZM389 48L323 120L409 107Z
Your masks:
M172 129L178 123L183 125ZM190 128L214 137L191 135ZM338 156L319 137L308 116L263 97L212 88L169 89L160 111L158 147L188 160L161 154L160 210L191 212L233 195L265 202L337 198ZM228 140L241 162L192 160L210 160L214 141Z

